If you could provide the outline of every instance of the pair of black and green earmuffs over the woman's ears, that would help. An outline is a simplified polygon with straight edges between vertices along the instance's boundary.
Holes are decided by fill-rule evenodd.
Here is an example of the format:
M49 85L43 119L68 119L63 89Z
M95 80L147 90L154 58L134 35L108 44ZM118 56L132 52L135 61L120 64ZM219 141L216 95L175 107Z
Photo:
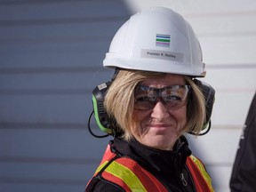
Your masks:
M90 128L90 119L92 117L89 117L88 121L88 127L89 131L92 133L93 136L101 138L101 137L107 137L108 135L116 135L116 130L114 127L116 126L115 119L110 119L108 116L103 102L105 95L108 91L108 88L112 81L116 78L116 75L118 73L118 69L115 72L115 75L113 76L111 81L108 81L107 83L100 84L95 89L92 91L92 106L93 106L93 111L94 112L94 118L96 121L96 124L100 127L100 130L102 132L106 132L107 135L103 136L98 136L95 135L91 128ZM198 88L203 92L204 94L204 100L205 100L205 108L206 108L206 120L204 122L204 126L202 129L202 132L199 133L199 135L204 135L207 132L210 131L211 129L211 116L212 116L212 108L213 108L213 103L214 103L214 95L215 95L215 90L212 88L210 84L206 84L202 81L199 81L197 79L193 79L194 83L198 86ZM195 132L188 132L190 134L196 134Z

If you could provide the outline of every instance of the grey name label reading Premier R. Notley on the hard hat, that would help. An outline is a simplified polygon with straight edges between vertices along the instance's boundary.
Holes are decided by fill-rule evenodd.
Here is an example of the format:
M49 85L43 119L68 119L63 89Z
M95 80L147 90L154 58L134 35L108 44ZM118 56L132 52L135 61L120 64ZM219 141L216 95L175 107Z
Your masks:
M141 58L152 58L158 60L173 60L177 62L183 61L183 53L180 52L164 52L160 50L148 50L141 49L140 51Z

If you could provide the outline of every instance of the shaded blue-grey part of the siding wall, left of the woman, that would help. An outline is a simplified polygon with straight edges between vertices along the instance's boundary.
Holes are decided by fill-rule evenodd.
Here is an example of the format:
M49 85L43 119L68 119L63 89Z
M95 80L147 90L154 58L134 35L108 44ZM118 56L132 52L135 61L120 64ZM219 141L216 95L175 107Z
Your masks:
M117 0L0 2L0 191L84 191L108 143L87 131L92 89L129 17Z

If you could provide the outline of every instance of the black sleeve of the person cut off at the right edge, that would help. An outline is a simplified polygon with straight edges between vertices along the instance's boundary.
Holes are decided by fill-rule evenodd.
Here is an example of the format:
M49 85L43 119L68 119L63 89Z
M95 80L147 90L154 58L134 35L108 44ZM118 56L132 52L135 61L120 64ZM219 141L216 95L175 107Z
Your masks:
M256 188L256 93L239 142L230 179L231 192L255 192Z

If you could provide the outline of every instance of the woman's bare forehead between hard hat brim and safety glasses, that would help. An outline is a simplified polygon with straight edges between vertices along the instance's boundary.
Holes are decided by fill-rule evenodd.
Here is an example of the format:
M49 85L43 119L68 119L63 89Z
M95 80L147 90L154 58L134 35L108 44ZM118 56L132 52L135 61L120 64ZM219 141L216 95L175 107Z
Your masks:
M140 84L144 86L154 86L156 88L162 88L168 85L185 84L185 77L182 75L166 74L162 77L148 78L142 81Z

